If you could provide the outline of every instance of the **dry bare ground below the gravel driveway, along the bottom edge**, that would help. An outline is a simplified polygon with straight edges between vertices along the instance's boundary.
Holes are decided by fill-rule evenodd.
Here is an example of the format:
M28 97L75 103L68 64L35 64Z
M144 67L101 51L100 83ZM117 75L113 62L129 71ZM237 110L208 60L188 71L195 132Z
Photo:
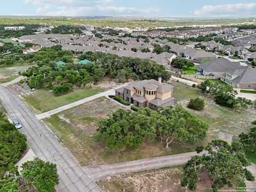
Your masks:
M103 179L97 184L105 192L188 192L187 188L180 186L182 180L182 166L166 167L143 171L138 173L127 173ZM199 173L196 192L210 192L212 180L207 172ZM232 190L224 187L223 190ZM234 189L234 188L233 188Z

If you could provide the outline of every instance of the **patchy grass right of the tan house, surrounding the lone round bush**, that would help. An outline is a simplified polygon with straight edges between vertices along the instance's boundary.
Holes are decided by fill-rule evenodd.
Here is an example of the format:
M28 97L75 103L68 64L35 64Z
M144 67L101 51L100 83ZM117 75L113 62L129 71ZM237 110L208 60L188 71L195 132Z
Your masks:
M201 95L199 90L181 83L170 82L174 86L175 102L180 103L187 110L195 113L210 125L207 140L218 137L219 131L233 134L237 137L241 132L248 132L252 121L255 120L255 109L234 110L217 105L211 96ZM201 97L205 101L202 111L187 108L191 98Z

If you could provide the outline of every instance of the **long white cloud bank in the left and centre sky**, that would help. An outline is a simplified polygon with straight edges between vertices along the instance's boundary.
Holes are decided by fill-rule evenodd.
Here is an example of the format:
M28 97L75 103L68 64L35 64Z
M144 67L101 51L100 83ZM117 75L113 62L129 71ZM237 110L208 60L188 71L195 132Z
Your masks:
M23 0L25 4L33 4L36 12L49 16L83 16L83 15L151 15L161 9L153 7L137 8L111 6L115 0Z

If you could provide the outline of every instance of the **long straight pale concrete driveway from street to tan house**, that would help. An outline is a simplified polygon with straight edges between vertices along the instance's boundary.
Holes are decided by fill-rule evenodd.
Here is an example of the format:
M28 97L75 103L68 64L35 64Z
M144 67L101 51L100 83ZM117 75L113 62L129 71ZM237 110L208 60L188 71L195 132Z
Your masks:
M46 118L48 116L60 113L63 110L67 110L67 109L70 109L72 107L76 107L78 105L81 105L85 102L88 102L88 101L91 101L91 100L94 100L94 99L97 99L97 98L100 98L100 97L108 97L108 95L115 95L115 89L111 89L111 90L108 90L108 91L105 91L105 92L102 92L102 93L98 93L98 94L92 95L91 97L87 97L87 98L81 99L79 101L69 103L68 105L61 106L61 107L58 107L56 109L52 109L52 110L47 111L45 113L38 114L38 115L36 115L36 118L41 120L41 119Z

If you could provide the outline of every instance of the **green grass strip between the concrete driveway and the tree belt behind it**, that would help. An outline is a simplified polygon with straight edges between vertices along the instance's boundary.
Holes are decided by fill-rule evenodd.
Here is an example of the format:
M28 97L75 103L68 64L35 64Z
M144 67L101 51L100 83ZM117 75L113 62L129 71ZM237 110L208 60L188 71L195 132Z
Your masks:
M90 97L103 91L106 90L100 87L79 87L71 90L67 94L56 96L49 90L38 89L33 93L33 95L25 96L24 98L29 103L29 105L33 106L40 113L43 113L51 109L67 105L68 103Z

